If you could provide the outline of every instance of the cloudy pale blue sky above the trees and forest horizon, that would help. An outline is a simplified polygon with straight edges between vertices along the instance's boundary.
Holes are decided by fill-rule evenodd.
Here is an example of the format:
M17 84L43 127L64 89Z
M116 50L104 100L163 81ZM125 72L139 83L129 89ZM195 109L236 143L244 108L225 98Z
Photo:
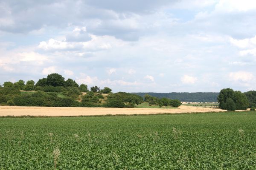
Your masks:
M1 0L0 84L256 90L254 0Z

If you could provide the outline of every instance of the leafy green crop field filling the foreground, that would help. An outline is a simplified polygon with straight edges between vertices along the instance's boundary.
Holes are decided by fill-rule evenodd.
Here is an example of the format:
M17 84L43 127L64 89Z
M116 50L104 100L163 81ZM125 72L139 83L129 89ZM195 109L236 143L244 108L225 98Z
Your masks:
M256 113L0 118L0 170L255 170Z

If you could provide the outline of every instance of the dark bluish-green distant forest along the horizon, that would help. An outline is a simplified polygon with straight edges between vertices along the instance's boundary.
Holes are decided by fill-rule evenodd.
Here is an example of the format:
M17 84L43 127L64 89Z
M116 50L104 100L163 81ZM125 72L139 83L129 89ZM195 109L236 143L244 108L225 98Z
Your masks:
M217 97L219 93L214 92L195 92L195 93L188 93L188 92L172 92L172 93L131 93L137 94L139 96L144 97L145 94L149 94L150 96L155 96L158 98L169 98L169 99L178 99L182 102L217 102Z

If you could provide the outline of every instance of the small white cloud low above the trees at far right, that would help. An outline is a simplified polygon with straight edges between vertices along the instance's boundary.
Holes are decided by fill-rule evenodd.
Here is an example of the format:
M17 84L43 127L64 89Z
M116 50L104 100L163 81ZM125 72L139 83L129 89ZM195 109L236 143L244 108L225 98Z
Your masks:
M237 71L237 72L231 72L229 74L229 78L231 81L243 81L243 82L249 82L254 79L254 76L252 73L247 71Z

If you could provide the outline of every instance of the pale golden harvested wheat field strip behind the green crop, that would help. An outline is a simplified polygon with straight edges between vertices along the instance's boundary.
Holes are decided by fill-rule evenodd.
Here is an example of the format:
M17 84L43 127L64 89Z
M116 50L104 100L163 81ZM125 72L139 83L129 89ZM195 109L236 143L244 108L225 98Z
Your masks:
M199 108L181 105L178 108L59 108L59 107L20 107L1 106L0 116L94 116L107 114L157 114L157 113L195 113L221 112L218 108Z

